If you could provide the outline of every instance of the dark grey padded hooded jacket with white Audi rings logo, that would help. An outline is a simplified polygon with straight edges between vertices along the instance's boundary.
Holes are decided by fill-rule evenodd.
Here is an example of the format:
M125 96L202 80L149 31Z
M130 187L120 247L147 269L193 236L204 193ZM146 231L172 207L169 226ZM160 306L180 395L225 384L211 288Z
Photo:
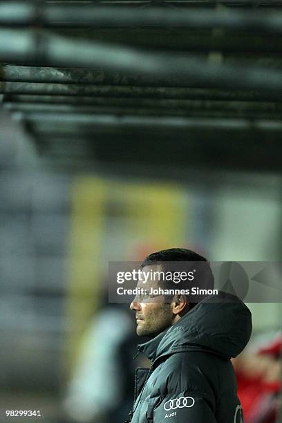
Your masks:
M135 373L132 423L241 423L231 357L250 339L252 315L228 294L198 303L177 323L138 346L152 361Z

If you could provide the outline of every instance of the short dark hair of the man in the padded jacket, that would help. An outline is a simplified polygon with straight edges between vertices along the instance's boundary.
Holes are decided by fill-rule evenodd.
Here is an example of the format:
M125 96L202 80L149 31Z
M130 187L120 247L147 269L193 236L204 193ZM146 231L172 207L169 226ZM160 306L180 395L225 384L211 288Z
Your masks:
M181 264L179 262L181 262ZM201 265L199 265L199 263L197 265L195 262L201 262ZM169 248L167 250L153 252L152 254L149 254L149 256L145 257L142 261L141 268L148 265L161 265L164 272L172 273L178 272L179 270L189 272L196 267L198 279L196 285L199 288L214 288L214 275L212 274L212 270L207 259L192 250L188 250L187 248ZM164 286L165 288L171 288L171 282L165 281ZM180 281L177 288L187 288L187 281ZM187 299L189 301L189 296L187 296ZM200 299L203 299L203 296L201 296ZM189 310L196 306L196 304L198 304L198 302L189 301Z

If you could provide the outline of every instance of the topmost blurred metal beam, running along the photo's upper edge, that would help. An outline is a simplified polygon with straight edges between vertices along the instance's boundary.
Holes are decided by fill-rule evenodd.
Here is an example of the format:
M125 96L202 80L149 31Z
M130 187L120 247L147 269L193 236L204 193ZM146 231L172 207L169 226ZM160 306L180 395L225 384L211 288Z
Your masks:
M96 4L36 5L23 1L0 4L0 25L91 26L128 28L158 26L161 28L223 28L282 32L282 14L247 10L211 10L177 8L129 8Z

